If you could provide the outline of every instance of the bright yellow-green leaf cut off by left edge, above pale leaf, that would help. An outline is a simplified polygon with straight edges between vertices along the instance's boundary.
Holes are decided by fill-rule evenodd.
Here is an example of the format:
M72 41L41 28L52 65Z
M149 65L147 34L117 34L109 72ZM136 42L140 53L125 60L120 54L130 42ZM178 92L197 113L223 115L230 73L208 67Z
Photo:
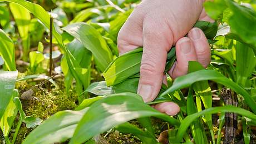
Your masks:
M16 71L14 46L12 39L0 29L0 55L9 71Z

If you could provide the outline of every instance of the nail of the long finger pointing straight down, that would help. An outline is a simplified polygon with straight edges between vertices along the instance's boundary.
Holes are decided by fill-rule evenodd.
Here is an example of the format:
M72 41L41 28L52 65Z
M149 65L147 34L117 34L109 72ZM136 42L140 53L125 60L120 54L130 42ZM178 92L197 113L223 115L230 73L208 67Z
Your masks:
M152 96L152 86L141 85L138 89L138 94L142 97L144 102L150 102Z

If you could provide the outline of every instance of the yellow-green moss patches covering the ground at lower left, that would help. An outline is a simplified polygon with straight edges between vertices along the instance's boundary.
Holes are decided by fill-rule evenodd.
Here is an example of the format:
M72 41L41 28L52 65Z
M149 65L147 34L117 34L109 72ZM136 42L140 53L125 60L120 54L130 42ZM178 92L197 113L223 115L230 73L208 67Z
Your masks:
M22 76L23 74L19 74L18 77ZM36 82L27 83L26 81L21 81L16 84L16 88L19 90L20 97L24 92L28 90L33 90L34 92L31 95L31 100L21 100L23 111L26 113L26 116L33 116L41 118L42 120L46 120L58 111L74 110L77 107L75 103L77 101L75 90L70 90L70 96L68 96L60 89L53 89L52 91L48 92L46 89L47 85L35 85L38 84ZM17 120L13 125L13 130L15 130L17 126L18 116L16 119ZM28 133L32 130L32 128L27 128L25 123L22 123L16 139L16 143L22 143L24 138L26 138ZM13 132L10 132L9 137L12 140ZM0 143L2 143L1 140Z

